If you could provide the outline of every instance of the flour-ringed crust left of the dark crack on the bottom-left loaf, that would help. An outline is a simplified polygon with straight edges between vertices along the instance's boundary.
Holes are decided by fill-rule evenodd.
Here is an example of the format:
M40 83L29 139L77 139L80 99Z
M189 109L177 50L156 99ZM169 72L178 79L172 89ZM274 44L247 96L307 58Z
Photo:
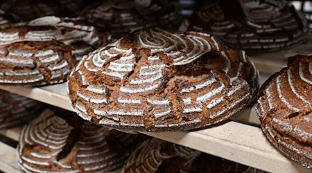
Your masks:
M47 109L21 131L17 147L17 163L25 172L48 171L51 163L59 167L59 170L55 172L79 172L73 169L71 163L56 161L56 156L66 145L71 129L72 127L65 120L54 116L53 111ZM33 148L26 154L24 149L31 145L41 146L42 149Z

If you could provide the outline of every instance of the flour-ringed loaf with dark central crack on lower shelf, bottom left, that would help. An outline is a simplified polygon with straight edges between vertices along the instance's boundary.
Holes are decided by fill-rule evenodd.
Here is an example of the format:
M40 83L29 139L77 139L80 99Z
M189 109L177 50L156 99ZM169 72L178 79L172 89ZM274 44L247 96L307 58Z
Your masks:
M140 141L76 113L46 109L21 131L17 163L25 172L114 172Z

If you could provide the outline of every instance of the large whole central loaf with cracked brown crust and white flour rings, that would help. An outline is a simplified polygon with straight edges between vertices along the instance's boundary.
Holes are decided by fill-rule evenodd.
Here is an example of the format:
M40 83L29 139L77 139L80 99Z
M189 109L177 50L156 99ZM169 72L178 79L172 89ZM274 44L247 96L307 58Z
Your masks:
M257 94L245 52L204 33L141 30L98 48L69 82L85 120L132 131L177 131L226 120Z

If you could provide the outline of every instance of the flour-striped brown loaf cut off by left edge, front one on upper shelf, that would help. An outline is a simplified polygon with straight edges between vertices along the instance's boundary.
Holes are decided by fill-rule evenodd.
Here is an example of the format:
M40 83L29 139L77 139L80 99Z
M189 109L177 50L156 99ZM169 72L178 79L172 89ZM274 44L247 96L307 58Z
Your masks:
M75 65L71 48L61 42L0 45L0 84L38 86L64 82Z

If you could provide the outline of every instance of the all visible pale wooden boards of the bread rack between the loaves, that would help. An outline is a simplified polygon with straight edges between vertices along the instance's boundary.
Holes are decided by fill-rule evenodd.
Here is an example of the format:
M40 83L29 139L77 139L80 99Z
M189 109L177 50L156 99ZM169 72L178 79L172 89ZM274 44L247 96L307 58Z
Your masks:
M286 57L298 53L312 53L312 42L300 46L264 55L252 54L251 60L260 71L260 82L263 83L272 73L286 66ZM20 86L0 86L0 89L17 93L34 100L39 100L56 107L73 111L67 97L66 84L55 84L35 88ZM1 130L0 134L8 140L18 140L22 127ZM178 131L171 133L144 132L148 136L168 140L197 149L201 152L220 156L244 165L257 167L267 172L312 172L299 163L291 161L274 146L270 145L259 126L254 107L236 113L231 120L220 125L196 131ZM16 142L15 142L16 145ZM0 143L0 170L3 172L21 172L15 163L15 147Z

